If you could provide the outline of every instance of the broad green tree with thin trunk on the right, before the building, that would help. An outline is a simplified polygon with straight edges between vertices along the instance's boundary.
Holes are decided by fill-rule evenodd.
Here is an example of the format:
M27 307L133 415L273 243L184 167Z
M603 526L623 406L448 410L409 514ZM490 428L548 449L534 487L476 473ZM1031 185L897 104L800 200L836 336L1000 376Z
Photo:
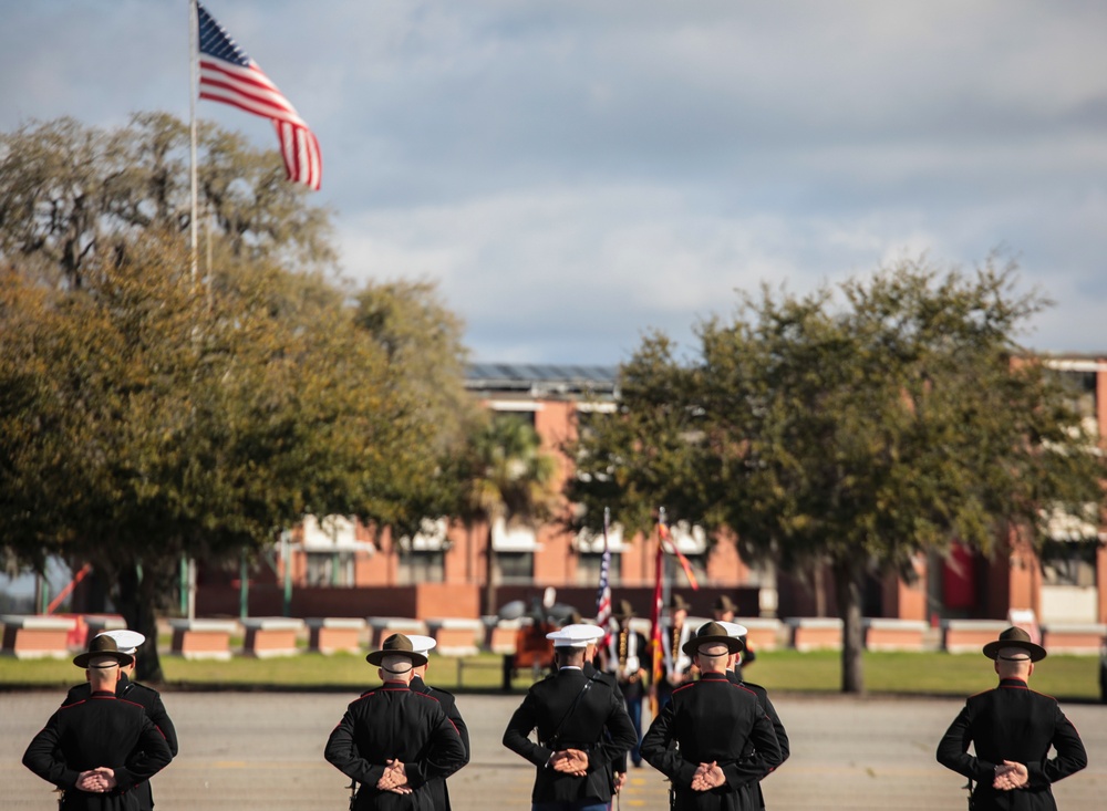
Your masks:
M622 406L579 448L575 498L619 517L664 503L728 527L749 557L827 563L845 621L844 688L863 689L867 572L912 573L954 539L985 554L1043 514L1099 503L1103 457L1016 336L1047 304L1015 269L904 262L809 295L743 297L701 324L699 356L649 337ZM597 523L602 511L589 509Z

